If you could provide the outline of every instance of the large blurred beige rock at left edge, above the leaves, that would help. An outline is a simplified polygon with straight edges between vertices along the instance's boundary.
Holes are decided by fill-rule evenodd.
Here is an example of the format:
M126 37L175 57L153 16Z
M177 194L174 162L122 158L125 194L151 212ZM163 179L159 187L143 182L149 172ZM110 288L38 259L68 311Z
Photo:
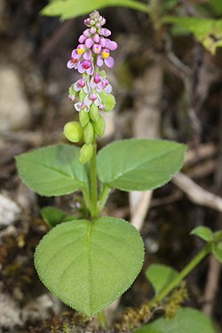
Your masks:
M30 121L28 100L16 69L0 67L0 132L26 128Z

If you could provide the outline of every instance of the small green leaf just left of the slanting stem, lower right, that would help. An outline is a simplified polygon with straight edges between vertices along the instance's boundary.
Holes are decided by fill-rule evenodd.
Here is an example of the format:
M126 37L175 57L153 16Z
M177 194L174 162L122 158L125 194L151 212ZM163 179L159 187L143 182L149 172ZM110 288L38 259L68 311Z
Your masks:
M155 293L158 294L178 275L178 272L169 266L153 264L147 268L145 274Z

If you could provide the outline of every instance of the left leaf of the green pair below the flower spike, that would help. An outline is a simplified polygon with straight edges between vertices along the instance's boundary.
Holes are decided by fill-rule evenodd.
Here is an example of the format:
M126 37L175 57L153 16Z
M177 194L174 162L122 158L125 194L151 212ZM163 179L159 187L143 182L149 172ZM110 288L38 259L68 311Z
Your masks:
M70 194L87 184L86 171L78 162L79 149L56 145L16 157L20 178L36 193L45 196Z

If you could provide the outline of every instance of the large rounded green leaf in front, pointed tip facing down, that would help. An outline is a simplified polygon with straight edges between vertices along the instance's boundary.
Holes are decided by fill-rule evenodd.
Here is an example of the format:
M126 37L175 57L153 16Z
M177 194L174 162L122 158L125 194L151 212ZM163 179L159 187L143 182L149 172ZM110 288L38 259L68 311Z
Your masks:
M88 316L102 311L131 286L143 259L139 232L118 218L62 223L44 236L35 254L44 285Z

